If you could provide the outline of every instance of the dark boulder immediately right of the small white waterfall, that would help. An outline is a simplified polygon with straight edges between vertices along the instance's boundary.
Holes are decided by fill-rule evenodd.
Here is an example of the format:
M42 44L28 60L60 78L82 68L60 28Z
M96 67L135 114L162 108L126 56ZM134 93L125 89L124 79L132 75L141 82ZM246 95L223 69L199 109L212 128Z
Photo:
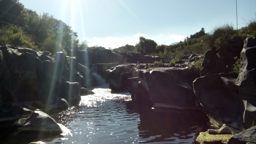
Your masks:
M122 64L106 71L109 87L113 90L126 89L126 80L132 77L135 69L130 64Z

